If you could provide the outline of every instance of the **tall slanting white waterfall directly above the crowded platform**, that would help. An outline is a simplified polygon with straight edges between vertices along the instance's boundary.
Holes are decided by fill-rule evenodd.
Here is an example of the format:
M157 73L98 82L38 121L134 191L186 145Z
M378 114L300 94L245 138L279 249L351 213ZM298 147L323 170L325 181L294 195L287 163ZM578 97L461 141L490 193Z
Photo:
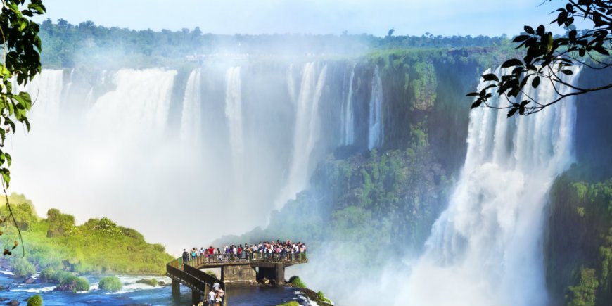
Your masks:
M307 63L302 72L302 84L295 112L295 132L293 133L293 154L286 185L276 198L275 207L281 208L286 200L295 197L308 184L310 158L319 140L319 100L323 93L327 65L315 75L315 63Z

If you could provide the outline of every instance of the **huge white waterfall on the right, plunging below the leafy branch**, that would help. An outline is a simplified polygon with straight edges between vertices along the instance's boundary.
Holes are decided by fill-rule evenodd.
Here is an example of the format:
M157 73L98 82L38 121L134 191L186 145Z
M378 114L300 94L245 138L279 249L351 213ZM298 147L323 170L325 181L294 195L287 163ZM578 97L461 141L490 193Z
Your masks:
M580 69L573 72L563 81L573 84ZM549 82L525 91L558 97ZM397 305L547 305L544 205L573 161L574 124L571 97L528 117L472 110L464 169Z

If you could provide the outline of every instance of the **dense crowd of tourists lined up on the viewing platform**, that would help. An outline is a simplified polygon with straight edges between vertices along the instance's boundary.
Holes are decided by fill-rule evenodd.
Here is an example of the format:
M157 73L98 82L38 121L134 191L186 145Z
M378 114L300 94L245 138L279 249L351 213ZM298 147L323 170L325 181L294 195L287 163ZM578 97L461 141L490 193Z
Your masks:
M192 248L191 251L183 249L183 262L190 260L205 260L206 262L235 262L241 260L304 260L306 253L305 243L287 241L264 241L260 243L244 243L238 246L224 246L223 248Z

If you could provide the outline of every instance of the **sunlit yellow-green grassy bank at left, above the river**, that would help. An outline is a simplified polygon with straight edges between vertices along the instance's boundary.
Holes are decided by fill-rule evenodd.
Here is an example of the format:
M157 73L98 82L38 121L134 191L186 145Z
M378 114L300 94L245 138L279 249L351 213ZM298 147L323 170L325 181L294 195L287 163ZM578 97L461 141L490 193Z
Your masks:
M34 267L45 279L56 279L53 275L63 271L162 274L164 264L172 260L163 246L146 243L134 229L120 227L108 218L76 225L71 215L51 209L46 219L40 219L34 215L32 203L24 200L14 194L9 198L27 241L25 258L11 258L15 274L32 275ZM6 208L0 210L0 217L7 215ZM5 246L13 244L8 237L15 234L14 227L7 227L6 233L0 236ZM138 260L134 260L136 255Z

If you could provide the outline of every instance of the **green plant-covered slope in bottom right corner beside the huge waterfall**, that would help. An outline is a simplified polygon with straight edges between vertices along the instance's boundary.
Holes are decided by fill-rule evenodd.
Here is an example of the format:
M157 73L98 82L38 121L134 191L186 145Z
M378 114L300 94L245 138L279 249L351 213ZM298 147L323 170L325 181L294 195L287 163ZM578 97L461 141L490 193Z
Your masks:
M568 305L611 305L612 179L573 181L577 168L551 190L547 283Z

